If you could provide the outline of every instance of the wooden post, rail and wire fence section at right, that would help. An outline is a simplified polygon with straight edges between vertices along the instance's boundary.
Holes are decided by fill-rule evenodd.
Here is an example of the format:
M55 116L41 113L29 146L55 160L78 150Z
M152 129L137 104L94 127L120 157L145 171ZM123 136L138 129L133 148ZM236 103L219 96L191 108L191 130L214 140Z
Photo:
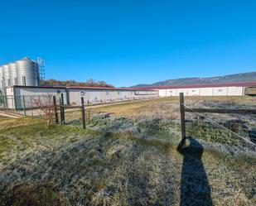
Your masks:
M191 104L191 105L190 105ZM181 93L181 133L230 152L256 152L256 110L254 108L193 108ZM197 106L201 105L197 103ZM223 106L223 105L222 105ZM188 113L185 117L185 113ZM183 117L182 117L183 116Z

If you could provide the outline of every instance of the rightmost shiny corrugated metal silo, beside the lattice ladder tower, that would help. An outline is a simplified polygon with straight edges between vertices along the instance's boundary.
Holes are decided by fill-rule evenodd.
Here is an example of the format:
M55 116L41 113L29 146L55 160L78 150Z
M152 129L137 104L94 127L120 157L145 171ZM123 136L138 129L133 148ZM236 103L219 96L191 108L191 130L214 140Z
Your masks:
M38 65L28 57L16 61L17 84L26 86L38 86Z

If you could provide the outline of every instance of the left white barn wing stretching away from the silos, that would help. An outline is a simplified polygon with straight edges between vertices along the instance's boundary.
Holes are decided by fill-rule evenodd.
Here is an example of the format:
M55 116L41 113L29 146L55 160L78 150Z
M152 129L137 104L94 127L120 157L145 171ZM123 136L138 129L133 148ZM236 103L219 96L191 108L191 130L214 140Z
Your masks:
M24 102L27 108L37 100L43 102L46 95L56 96L56 100L63 96L65 105L81 105L81 98L85 104L112 103L143 98L157 98L157 89L124 89L100 87L50 87L50 86L13 86L7 88L7 108L22 109Z

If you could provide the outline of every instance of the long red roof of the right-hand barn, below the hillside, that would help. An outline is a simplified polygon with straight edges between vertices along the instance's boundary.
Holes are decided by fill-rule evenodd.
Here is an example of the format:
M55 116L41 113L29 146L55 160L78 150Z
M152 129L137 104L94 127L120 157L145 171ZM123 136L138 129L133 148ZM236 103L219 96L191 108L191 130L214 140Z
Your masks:
M191 89L191 88L210 88L210 87L251 87L256 86L256 82L236 82L236 83L221 83L221 84L187 84L174 86L152 86L147 88L136 89Z

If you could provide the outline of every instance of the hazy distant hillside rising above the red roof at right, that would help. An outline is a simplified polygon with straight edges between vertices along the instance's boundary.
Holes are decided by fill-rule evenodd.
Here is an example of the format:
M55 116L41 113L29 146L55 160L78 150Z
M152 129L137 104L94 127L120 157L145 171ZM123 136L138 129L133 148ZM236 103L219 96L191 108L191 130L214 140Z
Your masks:
M153 84L137 84L133 87L150 87L150 86L172 86L172 85L187 85L187 84L218 84L218 83L233 83L233 82L249 82L256 81L256 72L230 74L225 76L208 77L208 78L181 78L167 79Z

